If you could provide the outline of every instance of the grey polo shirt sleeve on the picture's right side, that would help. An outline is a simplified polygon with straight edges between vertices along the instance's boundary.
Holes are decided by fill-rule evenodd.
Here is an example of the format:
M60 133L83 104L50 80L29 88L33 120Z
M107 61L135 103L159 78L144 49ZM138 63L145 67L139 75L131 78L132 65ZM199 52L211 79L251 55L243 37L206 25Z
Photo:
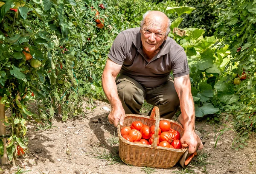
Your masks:
M174 56L172 65L172 73L174 77L185 76L189 74L189 65L184 49L180 49Z

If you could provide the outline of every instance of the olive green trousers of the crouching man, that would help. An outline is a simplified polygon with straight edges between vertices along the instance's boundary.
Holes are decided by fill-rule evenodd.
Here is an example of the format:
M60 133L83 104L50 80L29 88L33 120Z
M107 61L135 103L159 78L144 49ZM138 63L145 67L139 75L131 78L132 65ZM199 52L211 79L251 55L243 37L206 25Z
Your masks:
M140 114L144 100L159 108L161 118L171 119L180 109L180 100L171 77L159 87L146 88L131 77L120 75L116 78L116 85L125 114Z

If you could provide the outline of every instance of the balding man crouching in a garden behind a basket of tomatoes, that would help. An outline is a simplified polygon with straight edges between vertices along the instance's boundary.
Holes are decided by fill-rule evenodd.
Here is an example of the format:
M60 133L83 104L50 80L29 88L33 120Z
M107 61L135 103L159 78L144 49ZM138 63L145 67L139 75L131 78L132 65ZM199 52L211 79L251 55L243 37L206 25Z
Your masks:
M159 107L160 116L168 119L180 108L181 143L194 153L203 144L195 134L189 67L183 48L168 37L170 25L164 13L148 11L140 28L122 31L116 37L102 74L103 90L112 108L108 119L114 126L118 122L122 126L125 114L139 114L144 100Z

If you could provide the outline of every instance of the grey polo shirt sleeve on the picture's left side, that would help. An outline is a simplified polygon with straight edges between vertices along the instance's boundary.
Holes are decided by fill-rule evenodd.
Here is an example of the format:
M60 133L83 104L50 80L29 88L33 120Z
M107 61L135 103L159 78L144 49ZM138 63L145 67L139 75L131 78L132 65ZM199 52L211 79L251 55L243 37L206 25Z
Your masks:
M122 65L126 58L126 45L125 35L121 32L116 36L108 53L108 58L118 65Z

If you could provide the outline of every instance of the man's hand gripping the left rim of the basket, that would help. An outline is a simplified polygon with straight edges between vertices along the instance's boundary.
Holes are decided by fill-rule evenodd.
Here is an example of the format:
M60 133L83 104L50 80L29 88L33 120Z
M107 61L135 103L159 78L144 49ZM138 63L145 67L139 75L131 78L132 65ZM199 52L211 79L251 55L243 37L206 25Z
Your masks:
M122 126L125 120L125 110L122 107L112 107L111 112L108 115L108 121L117 127L117 124Z

